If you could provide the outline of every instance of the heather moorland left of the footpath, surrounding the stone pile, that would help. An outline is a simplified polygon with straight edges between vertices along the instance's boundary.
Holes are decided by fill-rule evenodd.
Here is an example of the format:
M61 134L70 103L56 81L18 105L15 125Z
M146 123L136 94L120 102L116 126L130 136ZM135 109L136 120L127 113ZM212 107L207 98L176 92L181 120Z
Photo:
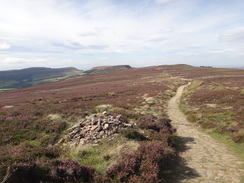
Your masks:
M126 158L124 154L136 153L138 159L143 161L146 153L139 151L144 151L146 144L150 143L152 146L148 147L158 148L155 155L161 156L155 160L152 159L154 157L145 160L150 167L157 167L150 180L166 180L166 175L170 174L166 171L161 173L161 163L156 161L171 161L171 155L168 154L174 154L171 148L174 130L169 126L169 121L166 122L165 108L180 82L163 74L157 67L152 67L0 93L0 180L16 182L19 178L22 182L116 182L117 175L113 177L108 174L110 167L115 164L120 166L122 159ZM164 95L166 90L169 95ZM148 94L146 100L142 98L145 93ZM3 108L13 104L12 108ZM148 107L144 109L145 105ZM137 112L136 108L147 113ZM94 143L77 146L58 143L71 132L70 127L80 123L81 119L104 111L114 117L123 116L129 121L129 126L130 123L137 125L131 125L125 131L118 130L113 138L108 136ZM93 122L88 132L98 128L98 121ZM109 122L103 121L101 124L102 128L110 128ZM79 140L81 135L77 132ZM165 156L160 154L161 149ZM155 163L151 164L151 160ZM141 170L146 172L143 164L140 163ZM32 178L28 177L30 174ZM130 174L125 180L132 181L135 176ZM135 180L141 180L140 176L138 174Z

